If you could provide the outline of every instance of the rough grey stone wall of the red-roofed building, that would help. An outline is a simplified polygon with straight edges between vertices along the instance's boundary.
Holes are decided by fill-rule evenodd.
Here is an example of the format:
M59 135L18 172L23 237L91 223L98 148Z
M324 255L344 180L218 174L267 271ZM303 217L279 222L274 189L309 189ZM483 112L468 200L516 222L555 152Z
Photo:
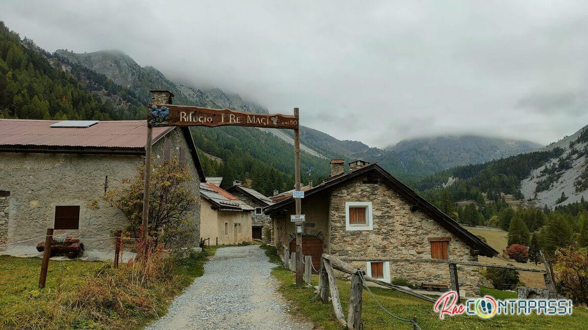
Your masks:
M172 157L179 157L179 147L186 148L186 164L191 168L193 194L197 208L193 210L195 239L199 237L200 196L198 173L188 145L179 129L167 134L171 139ZM155 164L163 161L163 142L153 146ZM111 207L92 210L88 207L108 188L128 184L138 173L143 157L133 155L0 153L0 191L9 191L8 243L45 235L54 226L55 206L79 205L78 230L55 230L55 235L79 237L86 255L112 258L113 240L84 241L83 238L110 237L116 229L125 227L126 217ZM5 199L6 201L6 199ZM6 209L4 211L5 214ZM8 254L34 255L39 241L11 245Z

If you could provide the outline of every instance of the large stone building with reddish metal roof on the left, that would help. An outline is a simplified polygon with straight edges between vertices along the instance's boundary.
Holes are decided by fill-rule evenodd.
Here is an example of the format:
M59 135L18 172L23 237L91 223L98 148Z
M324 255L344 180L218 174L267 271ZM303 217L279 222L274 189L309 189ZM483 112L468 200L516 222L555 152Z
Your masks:
M0 244L40 237L47 228L55 228L56 235L81 238L86 255L112 258L113 240L94 239L112 237L125 227L126 217L115 208L92 210L89 204L138 174L146 138L145 120L0 119ZM155 127L152 142L155 164L178 157L191 171L197 201L192 229L198 240L199 183L205 176L191 133L186 128ZM0 251L37 255L39 241Z

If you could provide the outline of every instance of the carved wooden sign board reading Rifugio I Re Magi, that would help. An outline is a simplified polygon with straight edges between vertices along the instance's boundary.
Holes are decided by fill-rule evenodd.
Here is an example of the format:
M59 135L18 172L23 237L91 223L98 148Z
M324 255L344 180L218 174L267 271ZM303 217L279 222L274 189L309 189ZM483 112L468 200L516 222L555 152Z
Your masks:
M165 126L250 126L274 129L298 129L298 118L292 115L266 115L229 109L198 106L149 105L149 127Z

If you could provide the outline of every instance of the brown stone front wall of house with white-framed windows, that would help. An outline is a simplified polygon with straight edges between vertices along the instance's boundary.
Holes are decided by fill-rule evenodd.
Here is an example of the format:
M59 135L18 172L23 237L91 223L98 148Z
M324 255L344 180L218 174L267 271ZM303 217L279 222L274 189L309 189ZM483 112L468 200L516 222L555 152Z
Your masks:
M477 261L470 247L445 230L420 210L410 211L412 204L383 184L351 181L332 191L330 204L330 252L349 258L425 258L430 259L427 238L450 237L449 259ZM348 231L345 225L345 203L371 201L373 230ZM366 269L366 262L353 262ZM458 265L460 288L466 295L479 295L478 267ZM450 288L449 266L429 262L390 262L390 278L406 278L412 284L445 284Z

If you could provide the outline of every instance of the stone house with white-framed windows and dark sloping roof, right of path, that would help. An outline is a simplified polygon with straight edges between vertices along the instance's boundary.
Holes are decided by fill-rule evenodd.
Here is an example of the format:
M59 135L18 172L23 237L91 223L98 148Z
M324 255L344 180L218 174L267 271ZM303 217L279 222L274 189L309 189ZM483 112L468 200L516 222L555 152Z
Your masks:
M273 220L272 244L278 251L284 245L295 251L295 226L290 223L294 199L268 206L265 213ZM347 174L343 160L332 160L329 179L306 191L302 213L306 214L302 251L312 255L316 269L326 252L346 257L382 281L405 278L416 287L450 288L447 264L385 260L477 261L478 255L498 254L382 167L362 160L349 163ZM479 268L459 267L459 274L460 288L466 294L479 294Z

